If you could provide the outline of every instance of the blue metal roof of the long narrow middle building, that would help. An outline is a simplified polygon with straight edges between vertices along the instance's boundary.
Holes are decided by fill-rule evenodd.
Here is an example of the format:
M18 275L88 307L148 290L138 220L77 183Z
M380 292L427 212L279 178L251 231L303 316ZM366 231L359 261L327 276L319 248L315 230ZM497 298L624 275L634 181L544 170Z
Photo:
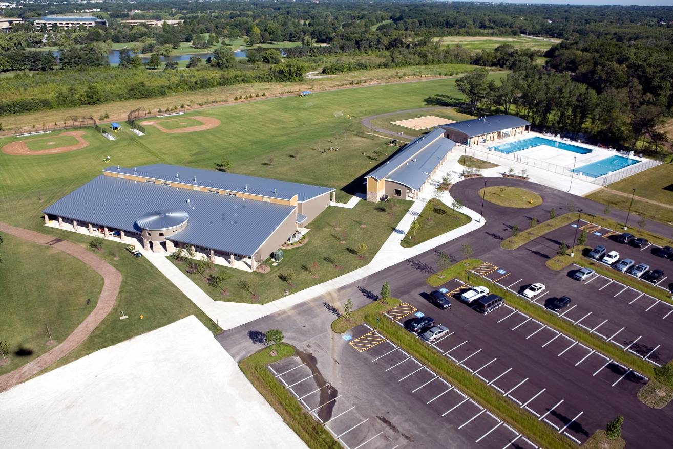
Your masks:
M389 179L419 190L433 169L455 145L456 142L444 137L444 130L437 128L409 142L386 163L365 176L365 179Z

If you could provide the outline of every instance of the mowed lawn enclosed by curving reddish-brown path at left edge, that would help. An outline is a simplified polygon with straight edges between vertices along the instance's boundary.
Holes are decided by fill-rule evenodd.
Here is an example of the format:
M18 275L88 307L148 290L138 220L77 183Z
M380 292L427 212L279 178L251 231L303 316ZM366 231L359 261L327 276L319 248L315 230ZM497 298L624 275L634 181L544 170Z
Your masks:
M2 237L0 341L7 341L5 356L11 358L0 365L5 374L53 347L47 344L46 326L57 343L70 335L96 307L103 278L57 249Z

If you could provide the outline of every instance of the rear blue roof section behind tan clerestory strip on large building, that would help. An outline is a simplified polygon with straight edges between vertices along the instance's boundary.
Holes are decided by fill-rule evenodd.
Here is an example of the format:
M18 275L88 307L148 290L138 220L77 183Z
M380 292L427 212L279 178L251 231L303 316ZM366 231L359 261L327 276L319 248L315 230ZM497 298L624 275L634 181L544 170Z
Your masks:
M135 168L119 167L119 169L113 166L107 167L103 171L145 176L159 181L181 182L193 186L229 190L232 192L240 192L242 194L248 193L267 196L269 198L281 198L283 200L290 200L293 196L298 195L299 202L310 200L316 196L334 190L332 188L312 186L310 184L278 181L277 179L237 175L236 173L223 173L214 170L195 169L168 164L142 165L141 167ZM196 181L194 181L194 177L196 177Z

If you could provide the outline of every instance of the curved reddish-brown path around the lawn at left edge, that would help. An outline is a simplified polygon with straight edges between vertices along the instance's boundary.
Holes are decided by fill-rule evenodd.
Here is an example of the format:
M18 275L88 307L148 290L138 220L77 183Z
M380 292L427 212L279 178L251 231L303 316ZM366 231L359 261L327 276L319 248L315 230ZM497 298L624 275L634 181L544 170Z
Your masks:
M122 282L122 275L109 263L91 251L79 245L75 245L75 243L55 239L50 235L36 233L34 231L29 231L28 229L13 227L1 221L0 231L19 237L20 239L37 243L38 245L46 245L56 248L59 251L63 251L96 270L96 272L103 277L104 281L103 289L100 292L98 303L96 304L94 311L92 311L92 313L77 326L77 329L75 329L73 333L66 337L63 343L60 343L58 346L52 348L52 350L46 352L46 354L42 354L42 356L35 360L31 360L24 366L20 366L19 368L0 376L0 392L2 392L10 389L12 386L24 382L24 380L31 378L47 366L57 362L57 360L65 357L69 352L77 348L77 346L87 339L108 313L112 311L114 301L119 292L119 286ZM45 294L48 294L48 292L45 292Z

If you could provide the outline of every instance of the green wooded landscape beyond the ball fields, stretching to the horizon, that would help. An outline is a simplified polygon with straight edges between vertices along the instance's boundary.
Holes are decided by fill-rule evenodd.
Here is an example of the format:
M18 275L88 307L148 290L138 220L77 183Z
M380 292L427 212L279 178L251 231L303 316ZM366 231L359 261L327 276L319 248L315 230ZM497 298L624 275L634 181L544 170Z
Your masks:
M442 63L511 71L502 83L487 83L482 70L460 80L472 108L521 114L541 128L610 145L658 149L666 140L659 126L673 109L673 7L344 0L96 5L104 8L96 15L108 20L105 28L47 32L26 23L0 34L0 71L30 73L0 79L0 114L298 81L321 68L333 74ZM76 12L73 4L22 6L3 15ZM130 17L184 23L150 28L120 22ZM520 34L561 42L546 52L437 42L443 36ZM246 58L234 57L240 44L248 48ZM122 47L118 64L110 65L108 52ZM184 54L185 48L211 56L192 56L179 68L170 60L161 63L160 57Z

